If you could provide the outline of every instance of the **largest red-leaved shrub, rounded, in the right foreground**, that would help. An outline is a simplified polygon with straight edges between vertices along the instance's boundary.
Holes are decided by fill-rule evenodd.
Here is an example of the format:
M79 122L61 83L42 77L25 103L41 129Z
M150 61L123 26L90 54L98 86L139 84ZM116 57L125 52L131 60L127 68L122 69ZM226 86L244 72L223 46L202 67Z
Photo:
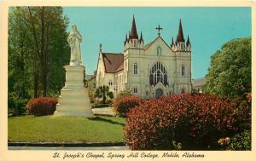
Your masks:
M132 150L207 149L229 136L235 122L229 101L213 95L172 95L152 99L127 115L126 144Z

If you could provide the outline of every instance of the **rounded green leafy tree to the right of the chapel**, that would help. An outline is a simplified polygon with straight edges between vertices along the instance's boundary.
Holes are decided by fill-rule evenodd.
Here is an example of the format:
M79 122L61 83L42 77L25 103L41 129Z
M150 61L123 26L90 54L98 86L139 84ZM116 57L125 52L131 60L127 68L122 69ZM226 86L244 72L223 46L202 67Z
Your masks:
M211 57L205 90L231 98L251 93L251 38L237 38L225 43Z

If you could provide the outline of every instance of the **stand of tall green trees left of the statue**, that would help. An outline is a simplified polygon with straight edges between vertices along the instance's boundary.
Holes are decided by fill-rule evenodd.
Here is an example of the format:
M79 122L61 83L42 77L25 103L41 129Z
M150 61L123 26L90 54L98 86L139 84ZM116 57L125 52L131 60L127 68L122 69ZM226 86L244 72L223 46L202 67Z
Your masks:
M67 24L61 7L9 9L8 103L15 115L32 97L59 94L70 54Z

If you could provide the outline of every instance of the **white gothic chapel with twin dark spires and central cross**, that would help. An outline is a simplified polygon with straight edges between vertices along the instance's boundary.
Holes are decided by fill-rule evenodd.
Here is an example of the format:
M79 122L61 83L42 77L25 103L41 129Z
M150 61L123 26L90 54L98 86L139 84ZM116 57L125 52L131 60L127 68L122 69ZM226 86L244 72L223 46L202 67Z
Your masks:
M137 34L133 17L123 54L106 53L100 47L96 69L96 88L108 85L116 96L122 90L145 99L160 95L191 93L191 43L185 41L181 20L176 41L168 45L160 37L144 44Z

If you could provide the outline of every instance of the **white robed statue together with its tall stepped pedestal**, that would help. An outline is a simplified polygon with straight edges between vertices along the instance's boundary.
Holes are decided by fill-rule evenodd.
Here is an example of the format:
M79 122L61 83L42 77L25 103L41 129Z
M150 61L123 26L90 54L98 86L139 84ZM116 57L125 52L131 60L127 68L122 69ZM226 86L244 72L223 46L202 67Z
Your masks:
M61 89L55 116L84 116L93 117L87 89L84 88L85 67L81 65L82 56L80 43L82 36L77 26L72 26L72 31L67 37L71 53L70 63L64 66L66 70L65 86Z

